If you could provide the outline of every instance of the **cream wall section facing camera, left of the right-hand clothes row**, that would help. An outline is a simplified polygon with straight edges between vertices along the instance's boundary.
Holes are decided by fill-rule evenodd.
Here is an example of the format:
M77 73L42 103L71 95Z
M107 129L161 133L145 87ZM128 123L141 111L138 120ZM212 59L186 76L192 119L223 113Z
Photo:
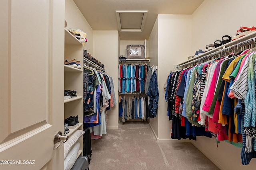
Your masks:
M170 140L171 129L163 86L170 71L174 70L173 65L184 61L190 55L191 21L191 15L158 15L158 138L160 141Z

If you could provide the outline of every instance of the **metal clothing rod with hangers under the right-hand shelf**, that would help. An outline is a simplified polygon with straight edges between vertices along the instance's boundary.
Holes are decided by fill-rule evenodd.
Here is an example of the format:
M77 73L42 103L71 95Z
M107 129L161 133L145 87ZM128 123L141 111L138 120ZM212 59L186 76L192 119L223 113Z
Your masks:
M207 51L206 53L203 53L202 55L198 57L194 57L188 61L185 61L183 63L180 63L176 65L176 69L179 68L185 68L188 65L196 65L200 63L204 63L206 61L210 61L212 59L216 59L222 55L222 53L225 53L226 51L232 53L237 51L243 51L245 49L249 49L252 47L252 43L254 44L254 47L256 46L256 31L253 33L250 33L248 35L245 35L243 37L240 37L234 41L231 41L229 43L226 43L224 45L221 45L220 47L217 47L215 49L212 49L210 51Z

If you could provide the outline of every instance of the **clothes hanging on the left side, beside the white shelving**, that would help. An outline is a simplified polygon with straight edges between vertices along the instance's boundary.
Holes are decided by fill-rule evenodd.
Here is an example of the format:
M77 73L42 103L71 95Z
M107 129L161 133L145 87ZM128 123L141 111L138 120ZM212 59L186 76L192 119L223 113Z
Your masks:
M84 67L84 127L90 127L91 138L106 134L107 107L116 105L110 76L91 67Z

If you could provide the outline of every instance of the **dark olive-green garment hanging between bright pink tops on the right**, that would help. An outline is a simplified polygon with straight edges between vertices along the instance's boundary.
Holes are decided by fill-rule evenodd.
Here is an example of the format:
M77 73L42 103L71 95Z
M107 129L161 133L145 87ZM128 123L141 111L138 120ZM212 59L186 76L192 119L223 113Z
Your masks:
M220 75L219 75L219 78L218 78L218 82L217 82L217 86L216 86L216 90L215 90L215 93L214 93L214 96L213 96L213 100L212 100L212 104L210 106L210 109L208 111L208 114L207 115L212 115L213 112L214 112L214 109L215 109L215 105L216 105L216 102L217 102L217 98L218 98L218 92L219 92L219 89L220 89L220 84L222 82L222 76L224 74L224 67L225 67L225 64L230 61L230 59L226 59L224 61L222 61L222 67L220 68ZM221 61L220 61L221 62Z

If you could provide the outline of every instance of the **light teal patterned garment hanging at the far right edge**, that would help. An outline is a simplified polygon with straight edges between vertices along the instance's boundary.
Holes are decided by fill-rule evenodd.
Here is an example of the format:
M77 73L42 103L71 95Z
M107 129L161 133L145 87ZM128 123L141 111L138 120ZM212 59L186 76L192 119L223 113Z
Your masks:
M248 92L244 99L245 113L244 113L244 127L255 127L256 121L256 96L255 96L255 64L256 54L254 53L249 61L248 67Z

